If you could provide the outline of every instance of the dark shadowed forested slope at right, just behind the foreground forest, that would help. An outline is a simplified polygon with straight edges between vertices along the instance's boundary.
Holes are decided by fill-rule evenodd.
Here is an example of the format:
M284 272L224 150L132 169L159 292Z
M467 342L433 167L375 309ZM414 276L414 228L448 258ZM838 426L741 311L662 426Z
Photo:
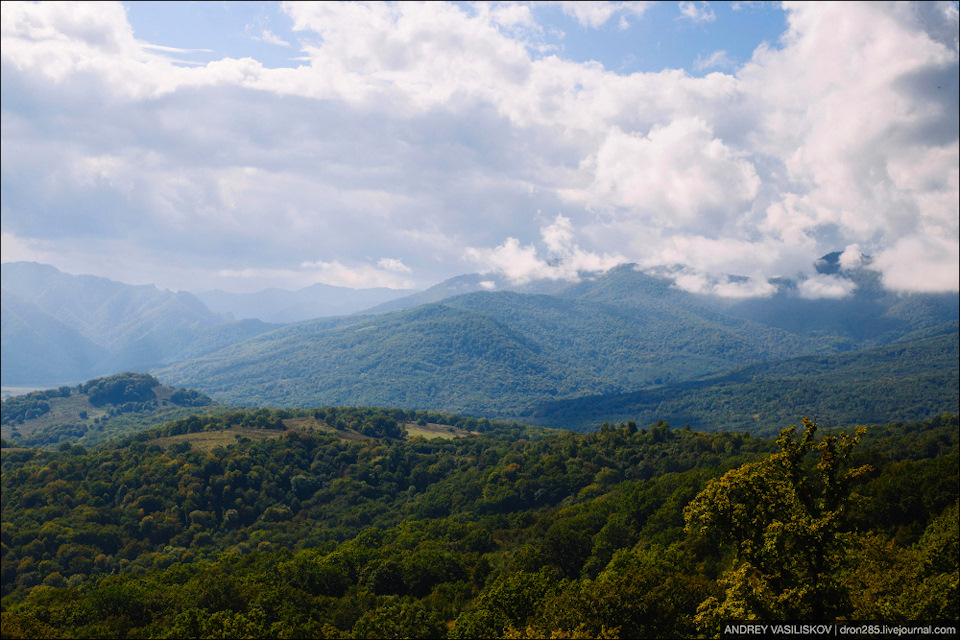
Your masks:
M776 433L798 415L824 424L909 421L958 410L960 325L854 353L753 364L701 380L538 406L532 424L589 431L666 420L704 431Z

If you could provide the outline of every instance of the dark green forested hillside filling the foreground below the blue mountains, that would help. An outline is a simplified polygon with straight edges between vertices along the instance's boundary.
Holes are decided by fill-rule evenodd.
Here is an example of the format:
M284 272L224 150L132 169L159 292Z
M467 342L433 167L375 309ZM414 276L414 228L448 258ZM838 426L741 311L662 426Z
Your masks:
M956 619L957 440L956 415L858 443L806 422L774 440L322 408L5 448L3 634L638 638L709 635L734 612Z

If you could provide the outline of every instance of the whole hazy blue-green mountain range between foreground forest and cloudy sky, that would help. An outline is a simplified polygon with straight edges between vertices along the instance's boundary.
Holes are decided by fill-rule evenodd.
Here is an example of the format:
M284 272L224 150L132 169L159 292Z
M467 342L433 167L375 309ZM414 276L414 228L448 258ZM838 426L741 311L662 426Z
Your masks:
M838 272L836 258L825 256L818 269ZM762 299L699 295L622 265L576 283L510 287L468 274L391 299L384 291L354 295L318 285L221 295L218 303L213 292L160 291L44 265L3 270L4 385L138 370L233 404L396 406L568 428L646 419L668 408L671 420L698 428L719 428L721 416L749 428L750 415L776 406L772 381L781 384L781 396L796 400L780 407L790 411L797 405L802 412L803 399L815 393L791 395L792 388L827 383L837 402L853 398L855 406L878 393L892 399L915 390L925 400L910 401L914 410L904 419L957 406L950 354L958 295L893 293L863 267L842 273L857 287L841 299L806 299L790 280ZM261 318L296 317L296 300L306 305L300 309L320 309L304 300L323 292L330 295L327 309L352 309L363 299L376 304L282 326L235 319L251 312L243 304L254 300ZM907 343L909 357L884 351ZM906 369L889 364L907 360ZM866 377L884 372L898 393L867 384ZM936 391L922 391L921 380ZM742 410L698 413L684 400L729 395L732 384L753 398ZM841 413L838 419L858 419L856 411Z

